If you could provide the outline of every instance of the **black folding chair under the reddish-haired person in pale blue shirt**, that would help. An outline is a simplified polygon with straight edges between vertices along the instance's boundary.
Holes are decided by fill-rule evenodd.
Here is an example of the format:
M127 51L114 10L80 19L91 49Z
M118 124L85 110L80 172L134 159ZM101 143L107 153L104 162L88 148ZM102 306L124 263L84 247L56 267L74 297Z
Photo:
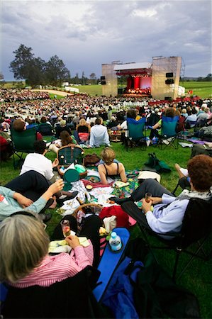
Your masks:
M194 257L198 257L203 260L208 260L211 257L211 252L208 254L204 252L203 244L211 235L212 201L204 201L200 198L191 198L184 214L182 229L180 233L177 234L159 234L154 232L148 225L145 215L141 213L140 209L132 201L122 203L121 208L123 208L123 211L128 213L128 215L138 221L138 225L143 237L145 238L145 242L147 243L147 246L150 248L151 252L152 249L166 249L174 250L176 252L176 258L172 272L172 277L174 280L179 279L179 277L182 276L187 267L189 267L191 264ZM160 242L162 242L164 245L150 245L147 234L157 237L157 239L160 240ZM168 236L167 239L164 239L165 236ZM170 239L170 237L173 239ZM180 274L177 276L179 256L182 254L182 252L191 255L191 258L186 264L184 264L182 272L180 272ZM153 252L152 254L155 257ZM157 260L156 257L155 260Z

